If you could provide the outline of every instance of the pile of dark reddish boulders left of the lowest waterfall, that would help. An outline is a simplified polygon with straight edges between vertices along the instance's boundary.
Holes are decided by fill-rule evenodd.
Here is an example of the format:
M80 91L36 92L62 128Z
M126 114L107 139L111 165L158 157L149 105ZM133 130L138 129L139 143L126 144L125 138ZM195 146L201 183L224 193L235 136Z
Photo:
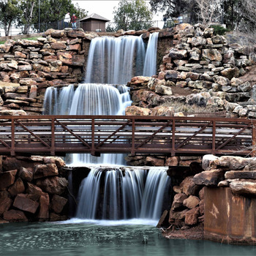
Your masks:
M68 181L67 173L63 176L64 165L58 157L4 157L0 221L67 219ZM9 170L12 167L16 169Z

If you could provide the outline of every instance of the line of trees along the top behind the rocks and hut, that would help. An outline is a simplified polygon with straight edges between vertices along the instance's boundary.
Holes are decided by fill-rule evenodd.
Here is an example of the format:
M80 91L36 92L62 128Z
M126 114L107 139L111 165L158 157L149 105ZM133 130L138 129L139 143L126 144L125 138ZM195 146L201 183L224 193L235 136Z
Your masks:
M78 18L87 15L71 0L0 0L0 26L6 35L14 25L28 34L31 24L39 31L37 24L63 20L67 12ZM251 35L256 31L256 0L150 0L149 5L144 0L121 0L113 10L115 26L108 30L148 29L157 12L166 19L184 15L189 23L225 23L227 29Z

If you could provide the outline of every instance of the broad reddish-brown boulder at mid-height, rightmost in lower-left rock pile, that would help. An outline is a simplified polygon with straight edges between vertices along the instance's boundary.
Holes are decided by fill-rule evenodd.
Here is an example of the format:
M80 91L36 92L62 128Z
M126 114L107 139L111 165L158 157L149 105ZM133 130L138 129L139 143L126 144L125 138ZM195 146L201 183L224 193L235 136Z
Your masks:
M67 189L68 181L66 178L54 176L38 179L36 184L43 191L48 192L49 194L61 195Z

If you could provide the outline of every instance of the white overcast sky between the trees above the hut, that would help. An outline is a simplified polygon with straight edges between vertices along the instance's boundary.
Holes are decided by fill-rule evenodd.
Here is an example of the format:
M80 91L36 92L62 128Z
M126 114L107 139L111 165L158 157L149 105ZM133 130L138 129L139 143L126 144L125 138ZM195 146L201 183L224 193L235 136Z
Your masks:
M118 7L119 0L72 0L72 4L78 3L78 5L88 11L88 14L97 13L108 20L113 21L113 9ZM148 3L149 0L146 0ZM150 5L148 4L150 7ZM162 20L162 13L154 15L153 20Z

